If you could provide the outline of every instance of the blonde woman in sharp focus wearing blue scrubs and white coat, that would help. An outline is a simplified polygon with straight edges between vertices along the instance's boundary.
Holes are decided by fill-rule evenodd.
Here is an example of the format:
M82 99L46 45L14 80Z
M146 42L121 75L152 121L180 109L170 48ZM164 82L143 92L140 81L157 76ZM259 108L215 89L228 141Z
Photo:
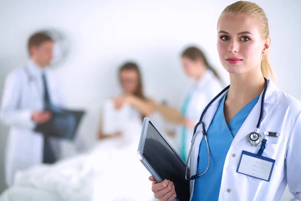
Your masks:
M301 103L266 79L272 70L264 11L243 1L226 7L217 37L230 87L196 126L190 200L279 200L287 184L291 200L301 200ZM149 179L160 201L176 197L172 181Z

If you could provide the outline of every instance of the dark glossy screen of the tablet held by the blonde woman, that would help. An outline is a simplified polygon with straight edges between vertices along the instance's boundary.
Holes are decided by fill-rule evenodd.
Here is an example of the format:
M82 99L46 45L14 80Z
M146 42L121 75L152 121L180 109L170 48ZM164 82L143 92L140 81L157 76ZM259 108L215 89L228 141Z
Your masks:
M189 200L189 181L185 179L186 165L150 122L142 155L163 180L174 182L179 200Z

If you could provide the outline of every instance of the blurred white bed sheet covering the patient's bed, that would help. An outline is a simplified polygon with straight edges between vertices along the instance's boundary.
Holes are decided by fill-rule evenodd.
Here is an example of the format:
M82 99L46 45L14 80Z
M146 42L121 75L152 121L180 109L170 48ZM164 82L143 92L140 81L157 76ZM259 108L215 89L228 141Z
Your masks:
M44 192L52 196L45 195L47 201L154 200L149 173L136 155L141 123L132 121L127 127L119 140L99 142L85 154L17 172L0 201L39 200Z

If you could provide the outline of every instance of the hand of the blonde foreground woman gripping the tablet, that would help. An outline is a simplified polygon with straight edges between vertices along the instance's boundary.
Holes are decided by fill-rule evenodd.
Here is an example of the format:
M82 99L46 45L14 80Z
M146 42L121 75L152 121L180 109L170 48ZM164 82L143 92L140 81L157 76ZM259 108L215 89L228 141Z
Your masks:
M148 179L153 181L152 191L155 193L155 198L160 201L173 201L176 198L175 185L172 181L165 179L162 182L157 182L153 176Z

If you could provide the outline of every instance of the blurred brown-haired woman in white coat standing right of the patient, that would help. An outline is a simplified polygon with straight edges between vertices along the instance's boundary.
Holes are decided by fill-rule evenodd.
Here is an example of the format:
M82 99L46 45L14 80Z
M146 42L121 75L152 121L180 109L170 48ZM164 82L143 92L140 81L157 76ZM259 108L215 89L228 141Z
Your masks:
M181 113L163 105L157 106L157 110L167 120L181 125L177 132L177 144L181 157L186 160L193 128L205 106L222 89L222 81L197 47L186 48L181 55L181 62L185 73L195 80L184 98Z

